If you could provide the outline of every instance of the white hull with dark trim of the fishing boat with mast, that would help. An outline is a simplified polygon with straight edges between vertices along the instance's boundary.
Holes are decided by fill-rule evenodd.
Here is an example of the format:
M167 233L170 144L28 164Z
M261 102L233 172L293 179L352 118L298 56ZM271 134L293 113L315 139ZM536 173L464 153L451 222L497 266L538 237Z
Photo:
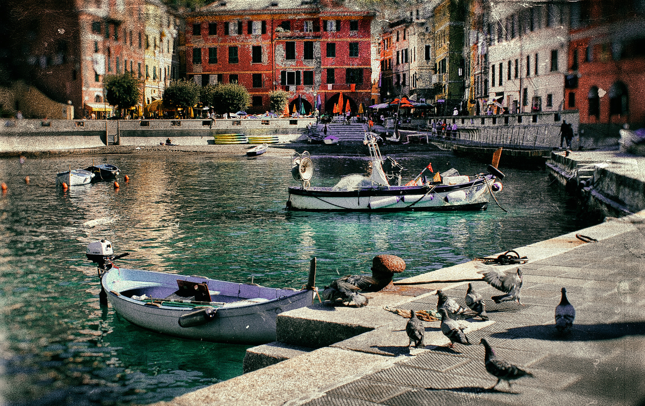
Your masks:
M488 182L493 177L487 175ZM488 208L484 178L457 185L391 186L389 189L334 191L289 188L286 209L293 211L477 211Z

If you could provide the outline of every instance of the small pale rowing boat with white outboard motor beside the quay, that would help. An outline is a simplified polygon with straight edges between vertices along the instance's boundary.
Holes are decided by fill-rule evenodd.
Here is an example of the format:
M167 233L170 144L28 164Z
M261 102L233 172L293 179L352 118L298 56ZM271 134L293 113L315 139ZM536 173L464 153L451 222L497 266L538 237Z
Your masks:
M88 244L86 255L97 262L101 287L117 313L139 327L171 336L268 343L276 339L277 314L313 302L315 258L306 288L296 290L113 267L112 261L123 255L114 256L108 240Z

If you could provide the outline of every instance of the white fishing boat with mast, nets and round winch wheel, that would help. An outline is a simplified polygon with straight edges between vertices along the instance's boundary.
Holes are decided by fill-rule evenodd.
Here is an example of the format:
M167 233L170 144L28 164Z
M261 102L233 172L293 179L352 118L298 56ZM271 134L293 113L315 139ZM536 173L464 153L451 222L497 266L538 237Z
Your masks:
M489 173L473 176L459 175L455 169L435 174L423 180L426 169L401 186L402 167L395 160L381 157L375 137L364 140L370 150L372 174L349 175L333 188L310 186L313 162L307 151L292 155L292 175L302 182L301 187L289 188L286 209L301 211L412 211L412 210L485 210L493 193L502 189L499 180L504 174L497 169L497 162L488 166ZM390 185L397 182L397 186Z

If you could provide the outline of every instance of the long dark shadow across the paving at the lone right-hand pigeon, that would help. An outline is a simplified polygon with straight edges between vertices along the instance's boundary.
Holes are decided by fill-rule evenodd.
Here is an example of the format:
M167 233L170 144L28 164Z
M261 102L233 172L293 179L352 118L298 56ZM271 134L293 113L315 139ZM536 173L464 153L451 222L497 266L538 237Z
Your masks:
M613 340L624 336L644 335L645 322L574 324L570 333L560 333L555 325L526 325L513 327L504 333L493 333L491 337L507 338L506 334L551 341L599 341Z

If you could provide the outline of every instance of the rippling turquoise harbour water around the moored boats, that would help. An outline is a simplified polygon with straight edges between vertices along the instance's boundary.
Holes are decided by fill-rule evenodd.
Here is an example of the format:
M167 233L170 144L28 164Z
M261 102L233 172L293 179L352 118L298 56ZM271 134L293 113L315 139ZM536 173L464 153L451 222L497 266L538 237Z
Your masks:
M395 157L410 179L432 162L468 175L484 164L436 151ZM543 171L506 169L504 213L292 213L288 157L110 156L109 182L55 189L55 172L91 157L1 159L0 334L3 396L10 404L148 403L242 373L245 345L170 338L99 306L86 244L130 252L121 267L301 287L318 258L317 284L368 271L373 256L399 255L419 275L588 225ZM313 157L312 185L366 173L365 157ZM418 169L417 169L418 168ZM130 182L124 182L123 175ZM25 184L25 176L30 184ZM45 403L42 403L45 402Z

